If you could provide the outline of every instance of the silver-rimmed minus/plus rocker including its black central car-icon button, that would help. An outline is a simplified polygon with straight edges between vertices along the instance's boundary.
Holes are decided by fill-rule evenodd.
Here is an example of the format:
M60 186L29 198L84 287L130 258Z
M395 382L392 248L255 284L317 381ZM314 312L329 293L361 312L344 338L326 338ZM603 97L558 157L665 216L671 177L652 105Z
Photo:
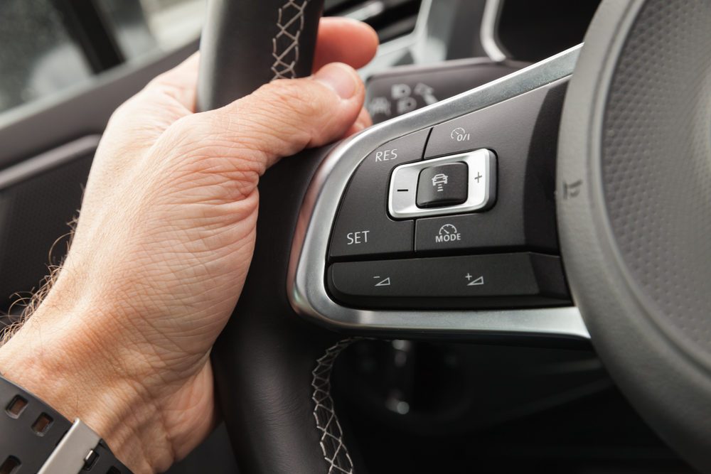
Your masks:
M395 168L387 210L393 219L485 210L496 200L496 155L488 149Z

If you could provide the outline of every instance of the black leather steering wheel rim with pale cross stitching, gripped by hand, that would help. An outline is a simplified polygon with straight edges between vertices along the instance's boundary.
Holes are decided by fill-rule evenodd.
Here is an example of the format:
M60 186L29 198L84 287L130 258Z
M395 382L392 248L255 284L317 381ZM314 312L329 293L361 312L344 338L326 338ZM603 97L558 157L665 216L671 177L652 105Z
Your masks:
M309 75L323 4L210 0L197 108L222 107L276 78ZM260 180L249 276L215 343L216 391L240 472L348 473L353 468L329 383L332 362L344 344L338 343L340 336L296 316L284 292L296 217L326 151L286 158Z

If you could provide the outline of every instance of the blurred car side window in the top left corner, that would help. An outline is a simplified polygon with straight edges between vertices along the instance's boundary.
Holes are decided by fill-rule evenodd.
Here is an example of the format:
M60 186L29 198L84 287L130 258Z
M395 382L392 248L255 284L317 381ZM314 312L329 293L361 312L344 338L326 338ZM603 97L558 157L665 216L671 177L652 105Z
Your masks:
M0 1L0 114L196 39L205 0Z

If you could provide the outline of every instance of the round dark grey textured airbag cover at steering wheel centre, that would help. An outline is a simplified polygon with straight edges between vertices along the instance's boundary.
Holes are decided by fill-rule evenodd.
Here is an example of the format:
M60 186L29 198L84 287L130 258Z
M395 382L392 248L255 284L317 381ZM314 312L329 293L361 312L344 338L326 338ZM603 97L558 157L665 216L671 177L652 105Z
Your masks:
M604 1L559 143L562 254L593 343L711 471L711 1Z

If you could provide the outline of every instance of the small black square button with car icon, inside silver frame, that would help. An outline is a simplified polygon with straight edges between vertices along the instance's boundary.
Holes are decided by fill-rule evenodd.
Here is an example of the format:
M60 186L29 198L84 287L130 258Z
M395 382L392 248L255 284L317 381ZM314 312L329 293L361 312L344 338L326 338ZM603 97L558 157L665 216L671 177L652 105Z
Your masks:
M468 168L461 161L424 168L417 180L417 207L439 208L464 203L468 181Z

